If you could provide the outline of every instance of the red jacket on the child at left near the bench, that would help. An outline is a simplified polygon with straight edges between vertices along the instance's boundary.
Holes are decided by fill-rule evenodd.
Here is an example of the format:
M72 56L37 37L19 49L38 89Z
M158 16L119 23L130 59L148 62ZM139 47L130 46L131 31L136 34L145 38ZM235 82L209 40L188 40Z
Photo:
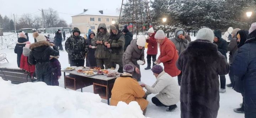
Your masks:
M35 71L35 65L29 64L28 57L25 57L23 54L21 54L20 68L25 69L26 71L30 72L31 76L33 75L33 73Z

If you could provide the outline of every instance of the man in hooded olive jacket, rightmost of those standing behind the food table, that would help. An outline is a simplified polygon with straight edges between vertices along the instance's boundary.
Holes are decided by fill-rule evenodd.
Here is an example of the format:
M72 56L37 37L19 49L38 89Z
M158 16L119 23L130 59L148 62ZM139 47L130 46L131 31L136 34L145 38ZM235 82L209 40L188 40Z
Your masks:
M124 54L124 36L119 30L117 24L110 25L110 37L103 42L110 52L110 65L116 68L119 65L118 72L123 73L122 57Z

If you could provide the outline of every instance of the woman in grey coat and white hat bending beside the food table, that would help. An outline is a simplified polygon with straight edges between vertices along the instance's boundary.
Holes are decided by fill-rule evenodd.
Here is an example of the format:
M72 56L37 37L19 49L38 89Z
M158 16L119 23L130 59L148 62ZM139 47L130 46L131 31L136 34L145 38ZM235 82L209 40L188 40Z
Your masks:
M144 50L145 50L146 39L140 36L138 39L133 39L131 44L128 45L126 52L123 54L123 65L131 64L135 69L136 73L133 73L133 78L140 81L140 66L137 63L138 60L142 60L145 64ZM144 65L143 64L143 65Z

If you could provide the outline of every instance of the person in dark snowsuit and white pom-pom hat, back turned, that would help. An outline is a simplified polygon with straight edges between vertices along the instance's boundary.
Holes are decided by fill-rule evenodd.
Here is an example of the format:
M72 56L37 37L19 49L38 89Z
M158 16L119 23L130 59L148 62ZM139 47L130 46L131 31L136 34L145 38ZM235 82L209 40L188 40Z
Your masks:
M31 65L36 65L37 81L43 81L47 85L52 85L49 58L50 55L58 56L59 50L56 45L47 42L43 34L34 32L33 37L36 38L37 42L30 44L31 51L28 56L28 62ZM50 46L53 46L53 48Z

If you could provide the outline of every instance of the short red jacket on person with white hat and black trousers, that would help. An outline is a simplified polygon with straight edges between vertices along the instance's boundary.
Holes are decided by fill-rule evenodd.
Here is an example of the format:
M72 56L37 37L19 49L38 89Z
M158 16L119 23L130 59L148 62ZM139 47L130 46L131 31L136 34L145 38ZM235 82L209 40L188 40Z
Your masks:
M156 55L157 50L158 50L157 49L158 48L157 42L156 42L156 39L154 37L155 37L155 32L152 34L152 36L149 36L148 40L146 40L146 42L148 43L147 54L150 54L150 55Z

